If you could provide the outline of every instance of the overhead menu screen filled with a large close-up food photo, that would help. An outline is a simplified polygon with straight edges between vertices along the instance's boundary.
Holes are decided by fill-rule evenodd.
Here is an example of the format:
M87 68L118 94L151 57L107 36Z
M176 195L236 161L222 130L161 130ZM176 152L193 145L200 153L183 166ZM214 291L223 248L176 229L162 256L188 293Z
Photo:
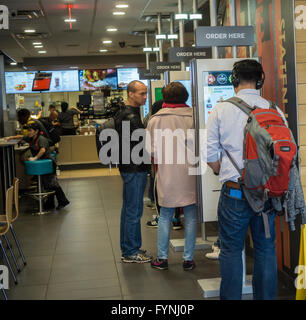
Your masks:
M116 90L118 87L117 69L86 69L79 71L80 90Z

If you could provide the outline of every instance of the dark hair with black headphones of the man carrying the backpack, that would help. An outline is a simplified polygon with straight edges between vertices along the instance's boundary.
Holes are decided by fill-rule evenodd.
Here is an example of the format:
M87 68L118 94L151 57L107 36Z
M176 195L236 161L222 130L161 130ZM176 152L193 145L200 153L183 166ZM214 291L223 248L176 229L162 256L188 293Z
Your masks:
M244 59L238 61L233 66L232 83L238 87L240 83L255 83L256 89L263 86L265 73L262 65L253 59Z

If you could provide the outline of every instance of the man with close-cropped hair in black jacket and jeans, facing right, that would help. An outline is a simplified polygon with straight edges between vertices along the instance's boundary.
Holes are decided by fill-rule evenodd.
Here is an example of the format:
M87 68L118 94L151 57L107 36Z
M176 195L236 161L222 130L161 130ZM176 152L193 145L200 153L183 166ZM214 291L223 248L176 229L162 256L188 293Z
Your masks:
M146 254L145 250L141 250L140 219L143 213L143 195L150 165L133 163L131 153L139 141L131 141L131 136L135 130L144 128L140 118L140 107L146 102L147 87L140 81L132 81L128 85L127 95L126 106L116 115L116 129L120 141L119 170L123 180L120 225L121 259L126 263L145 263L150 262L152 257ZM130 130L126 132L123 127L128 124ZM127 144L130 148L126 148Z

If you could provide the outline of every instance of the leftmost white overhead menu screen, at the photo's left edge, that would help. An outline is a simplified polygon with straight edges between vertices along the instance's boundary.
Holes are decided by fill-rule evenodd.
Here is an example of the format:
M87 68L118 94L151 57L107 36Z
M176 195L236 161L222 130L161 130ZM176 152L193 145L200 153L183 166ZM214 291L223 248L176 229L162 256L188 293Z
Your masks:
M5 72L5 91L7 94L31 93L35 71Z

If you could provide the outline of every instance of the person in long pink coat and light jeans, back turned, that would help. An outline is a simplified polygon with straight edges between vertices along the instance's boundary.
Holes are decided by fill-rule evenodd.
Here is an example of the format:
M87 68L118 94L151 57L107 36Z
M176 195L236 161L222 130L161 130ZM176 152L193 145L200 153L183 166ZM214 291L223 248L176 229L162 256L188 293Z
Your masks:
M193 261L197 232L196 175L188 163L189 146L193 146L192 109L186 105L188 92L179 82L163 88L162 109L153 115L147 131L157 170L157 194L161 206L158 221L158 257L151 266L168 269L168 249L171 221L175 208L183 207L185 219L184 270L195 268ZM188 132L188 134L187 134ZM148 142L148 140L147 140ZM193 148L191 148L193 149Z

